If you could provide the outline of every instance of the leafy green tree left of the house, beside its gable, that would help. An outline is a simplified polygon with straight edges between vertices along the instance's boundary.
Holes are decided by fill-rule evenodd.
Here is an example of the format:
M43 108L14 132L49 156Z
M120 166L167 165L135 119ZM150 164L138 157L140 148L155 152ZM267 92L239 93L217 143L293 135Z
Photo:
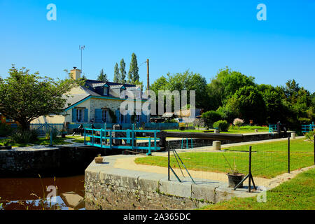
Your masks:
M30 74L29 70L13 65L6 79L0 79L0 113L20 123L22 130L40 116L60 114L64 111L66 92L82 85L80 80L68 78L53 80Z

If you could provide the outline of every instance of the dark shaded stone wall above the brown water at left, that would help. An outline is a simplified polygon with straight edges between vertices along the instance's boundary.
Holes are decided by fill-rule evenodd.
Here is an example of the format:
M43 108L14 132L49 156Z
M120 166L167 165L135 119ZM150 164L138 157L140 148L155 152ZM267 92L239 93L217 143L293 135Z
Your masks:
M62 147L0 150L0 176L82 174L100 148Z

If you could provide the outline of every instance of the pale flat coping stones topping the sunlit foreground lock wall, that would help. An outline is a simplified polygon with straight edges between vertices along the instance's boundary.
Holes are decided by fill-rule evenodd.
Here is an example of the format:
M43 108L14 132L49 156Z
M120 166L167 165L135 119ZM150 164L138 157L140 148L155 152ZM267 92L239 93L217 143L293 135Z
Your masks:
M181 183L173 175L171 181L168 181L167 174L115 168L116 160L126 156L128 155L106 156L102 164L93 161L85 169L85 192L96 193L97 185L109 185L113 188L144 190L174 197L205 200L210 203L230 200L232 197L253 197L260 193L259 191L248 193L246 187L232 190L228 188L228 183L221 181L194 179L195 184L186 177L181 178Z

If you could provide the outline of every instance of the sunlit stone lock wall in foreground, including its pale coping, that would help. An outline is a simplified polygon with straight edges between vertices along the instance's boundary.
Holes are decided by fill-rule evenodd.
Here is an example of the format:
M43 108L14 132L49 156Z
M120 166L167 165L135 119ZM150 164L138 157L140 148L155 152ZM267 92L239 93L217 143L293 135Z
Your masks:
M196 209L231 197L253 197L227 183L188 179L182 183L165 174L114 168L115 157L94 161L85 170L85 209Z

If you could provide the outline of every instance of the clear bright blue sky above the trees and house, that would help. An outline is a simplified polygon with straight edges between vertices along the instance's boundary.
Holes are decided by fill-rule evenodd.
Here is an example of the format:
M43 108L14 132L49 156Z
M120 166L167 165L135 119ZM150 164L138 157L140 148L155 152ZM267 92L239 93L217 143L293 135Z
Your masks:
M302 3L301 3L302 2ZM57 20L48 21L48 3ZM258 3L267 21L258 21ZM80 68L97 78L103 68L132 52L138 63L150 59L151 83L167 72L186 69L209 82L229 66L257 83L286 80L315 91L315 1L14 1L0 0L0 75L11 64L42 76L64 78L64 69ZM146 83L146 64L139 67Z

